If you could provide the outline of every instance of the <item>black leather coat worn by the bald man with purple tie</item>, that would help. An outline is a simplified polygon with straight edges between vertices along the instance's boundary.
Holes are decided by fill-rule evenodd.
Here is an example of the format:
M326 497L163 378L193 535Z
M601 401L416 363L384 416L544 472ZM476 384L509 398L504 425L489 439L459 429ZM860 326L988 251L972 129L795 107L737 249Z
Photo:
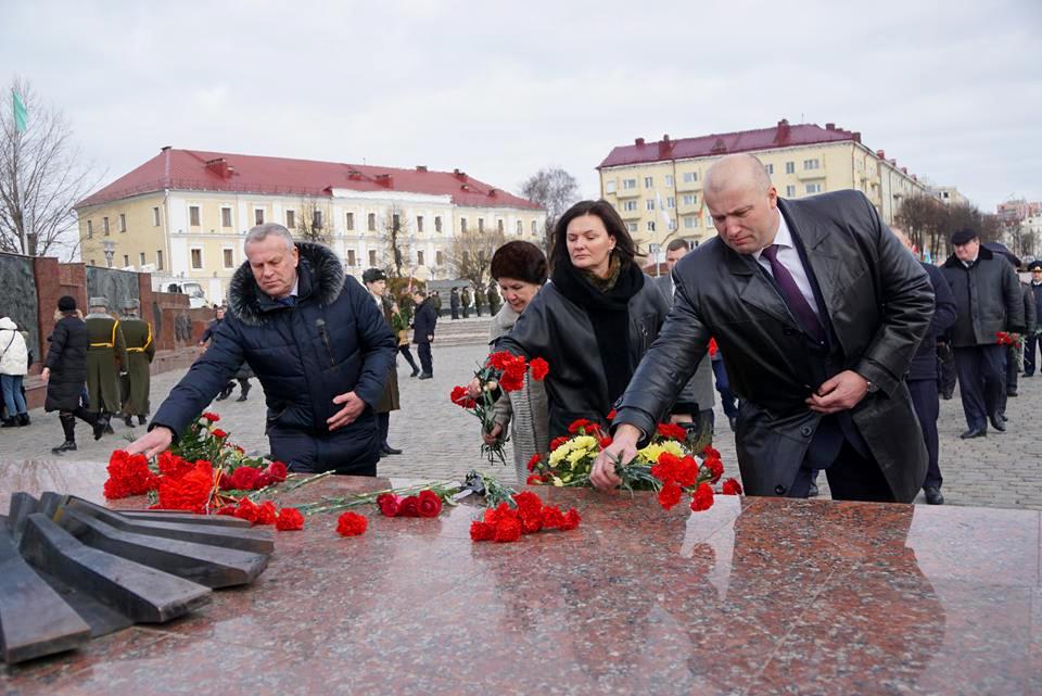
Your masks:
M817 286L835 337L829 349L808 337L751 254L713 238L676 263L673 312L614 422L652 432L655 415L676 397L713 337L730 389L744 400L736 433L741 482L750 495L785 495L813 458L822 426L805 400L826 379L854 370L878 391L830 418L824 435L849 419L895 498L912 501L927 457L904 376L933 313L928 276L857 191L783 199L778 207Z

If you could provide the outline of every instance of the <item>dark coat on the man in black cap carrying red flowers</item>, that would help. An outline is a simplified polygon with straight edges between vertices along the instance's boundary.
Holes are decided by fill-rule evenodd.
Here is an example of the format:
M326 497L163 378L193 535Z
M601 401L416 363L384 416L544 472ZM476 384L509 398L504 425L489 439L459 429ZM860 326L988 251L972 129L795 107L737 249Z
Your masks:
M993 345L997 331L1025 330L1020 280L1005 258L981 246L969 268L952 254L942 270L955 296L954 347Z

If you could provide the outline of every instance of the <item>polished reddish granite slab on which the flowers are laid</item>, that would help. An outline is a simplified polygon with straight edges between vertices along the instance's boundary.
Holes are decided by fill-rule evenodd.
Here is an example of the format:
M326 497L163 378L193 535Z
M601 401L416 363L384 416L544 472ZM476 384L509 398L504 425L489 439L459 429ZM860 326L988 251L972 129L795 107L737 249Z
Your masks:
M0 509L17 490L98 499L103 480L0 467ZM1042 694L1038 511L717 496L691 514L534 490L582 526L499 545L470 541L468 505L361 508L351 539L316 516L276 536L253 585L0 668L0 693Z

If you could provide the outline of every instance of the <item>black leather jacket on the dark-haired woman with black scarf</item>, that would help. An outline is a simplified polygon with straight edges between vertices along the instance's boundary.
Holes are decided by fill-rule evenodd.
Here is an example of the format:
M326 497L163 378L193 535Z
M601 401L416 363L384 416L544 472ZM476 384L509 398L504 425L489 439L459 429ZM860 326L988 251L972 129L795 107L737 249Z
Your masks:
M665 321L669 306L651 279L630 299L630 356L636 365ZM597 349L593 321L596 317L546 283L518 317L513 329L498 341L496 350L529 358L542 357L550 366L545 387L549 412L549 436L568 434L579 418L607 425L611 409L608 380ZM672 406L672 401L663 413Z

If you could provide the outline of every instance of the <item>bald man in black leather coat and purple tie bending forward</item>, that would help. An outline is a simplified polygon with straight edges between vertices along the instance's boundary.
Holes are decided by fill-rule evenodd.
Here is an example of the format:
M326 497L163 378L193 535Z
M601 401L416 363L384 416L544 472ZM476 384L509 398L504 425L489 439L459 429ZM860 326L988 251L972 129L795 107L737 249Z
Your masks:
M750 495L805 497L823 469L833 497L911 502L926 476L904 383L930 326L926 271L868 199L778 198L751 155L706 176L717 237L677 262L675 305L640 362L590 477L620 483L715 337L742 400L736 445Z

